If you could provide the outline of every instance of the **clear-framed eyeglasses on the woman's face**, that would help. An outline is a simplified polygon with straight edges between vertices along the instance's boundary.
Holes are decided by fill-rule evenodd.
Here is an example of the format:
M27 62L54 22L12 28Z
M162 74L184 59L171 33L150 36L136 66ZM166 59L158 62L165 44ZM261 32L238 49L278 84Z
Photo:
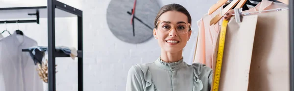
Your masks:
M170 22L158 21L155 27L157 27L163 33L169 33L172 30L172 28L174 28L177 33L185 34L190 30L191 23L183 22L183 23L178 23L176 25L173 25Z

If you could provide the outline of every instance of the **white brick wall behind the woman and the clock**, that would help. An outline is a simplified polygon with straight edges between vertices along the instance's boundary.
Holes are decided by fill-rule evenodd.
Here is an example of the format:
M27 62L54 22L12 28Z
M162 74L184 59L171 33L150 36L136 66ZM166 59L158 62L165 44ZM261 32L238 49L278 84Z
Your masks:
M84 91L124 91L128 69L135 64L153 62L159 56L160 47L155 39L151 38L146 43L133 45L118 40L111 33L106 22L106 9L110 0L59 1L83 10ZM158 1L161 6L179 3L190 12L194 33L183 52L184 58L188 60L198 31L196 21L207 13L209 7L217 0ZM0 0L0 7L42 5L47 5L47 0ZM56 45L77 47L77 20L75 18L56 18L55 21ZM10 32L17 28L17 24L7 24ZM48 45L47 19L41 19L40 24L19 23L19 28L25 35L35 39L39 45ZM4 29L5 25L0 24L0 31ZM77 91L77 63L70 58L57 58L56 64L58 65L56 89L58 91Z

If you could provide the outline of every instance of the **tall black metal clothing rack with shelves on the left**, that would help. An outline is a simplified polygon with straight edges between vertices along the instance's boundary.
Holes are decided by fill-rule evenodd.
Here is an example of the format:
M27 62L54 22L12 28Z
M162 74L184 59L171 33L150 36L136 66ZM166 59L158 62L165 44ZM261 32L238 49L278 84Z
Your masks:
M0 23L38 23L39 18L48 19L48 69L49 91L56 90L55 58L70 57L61 50L55 48L55 18L77 17L77 73L78 91L83 91L83 13L70 5L57 0L47 0L47 6L34 7L9 7L0 8L0 19L35 18L36 20L0 21ZM29 13L34 12L34 13ZM55 15L56 14L56 15ZM22 51L29 51L22 49Z

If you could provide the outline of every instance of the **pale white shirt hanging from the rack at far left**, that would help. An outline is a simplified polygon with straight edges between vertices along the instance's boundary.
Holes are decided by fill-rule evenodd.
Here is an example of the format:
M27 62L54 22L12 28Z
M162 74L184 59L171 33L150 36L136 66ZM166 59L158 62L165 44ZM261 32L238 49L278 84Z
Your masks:
M43 91L37 67L29 54L22 52L23 48L36 45L36 41L16 32L0 40L0 90Z

